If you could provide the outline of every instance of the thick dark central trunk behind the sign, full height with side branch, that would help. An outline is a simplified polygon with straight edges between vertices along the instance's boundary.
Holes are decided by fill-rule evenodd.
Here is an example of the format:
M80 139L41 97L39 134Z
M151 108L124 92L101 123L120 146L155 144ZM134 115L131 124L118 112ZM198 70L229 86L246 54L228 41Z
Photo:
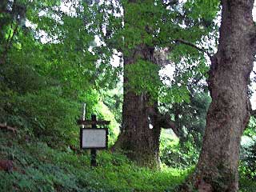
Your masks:
M137 3L142 2L154 5L153 0L128 0L126 2L127 4L124 4L125 26L131 28L131 30L137 29L137 31L141 31L141 34L138 32L138 36L141 35L142 42L139 45L138 42L129 42L133 41L132 38L129 39L129 31L127 32L128 37L124 37L124 44L126 45L128 42L126 47L130 47L130 44L136 46L130 50L123 50L124 100L122 107L122 130L113 150L123 150L130 159L137 162L140 166L157 168L159 166L159 138L161 127L172 128L176 133L177 130L174 127L174 122L170 120L170 116L161 115L159 113L158 99L153 98L149 91L145 90L142 91L142 94L137 94L132 91L133 89L130 89L132 85L130 85L128 78L130 75L128 75L129 70L127 70L127 67L135 64L139 59L146 62L153 62L158 66L166 64L167 61L165 58L166 50L161 50L162 52L156 53L154 52L154 45L149 46L149 43L144 39L145 32L151 36L153 35L150 24L142 26L142 21L139 19L134 20L134 17L136 17L136 15L134 15L134 9L138 8L136 8L136 6L138 6ZM131 8L132 6L134 6L134 9ZM138 13L142 14L141 11L138 11L137 14ZM146 14L146 12L144 14ZM158 74L158 70L155 70L153 73ZM152 76L155 75L153 74Z

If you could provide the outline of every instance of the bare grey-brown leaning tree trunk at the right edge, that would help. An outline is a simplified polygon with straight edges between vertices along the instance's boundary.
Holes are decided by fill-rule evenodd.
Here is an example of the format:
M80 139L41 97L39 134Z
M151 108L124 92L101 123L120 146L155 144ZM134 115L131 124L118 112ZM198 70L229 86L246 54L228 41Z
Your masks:
M253 0L222 0L218 52L211 58L208 82L212 103L192 179L199 191L238 191L239 146L250 117L247 86L254 60L253 5Z

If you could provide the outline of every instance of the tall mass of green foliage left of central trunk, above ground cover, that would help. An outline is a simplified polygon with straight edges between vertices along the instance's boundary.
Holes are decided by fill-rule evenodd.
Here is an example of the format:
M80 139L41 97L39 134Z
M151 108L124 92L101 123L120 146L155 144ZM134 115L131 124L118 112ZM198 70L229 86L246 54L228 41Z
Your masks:
M79 102L86 102L87 116L95 113L98 90L113 87L118 78L117 70L97 62L98 54L89 51L94 35L85 29L87 9L82 2L70 4L72 14L62 11L60 3L18 0L1 6L6 14L0 16L8 20L0 27L6 37L0 42L6 47L0 50L0 122L18 126L50 146L65 147L78 145ZM109 112L106 106L97 110L99 116ZM112 114L104 118L113 122L113 143L118 124Z

